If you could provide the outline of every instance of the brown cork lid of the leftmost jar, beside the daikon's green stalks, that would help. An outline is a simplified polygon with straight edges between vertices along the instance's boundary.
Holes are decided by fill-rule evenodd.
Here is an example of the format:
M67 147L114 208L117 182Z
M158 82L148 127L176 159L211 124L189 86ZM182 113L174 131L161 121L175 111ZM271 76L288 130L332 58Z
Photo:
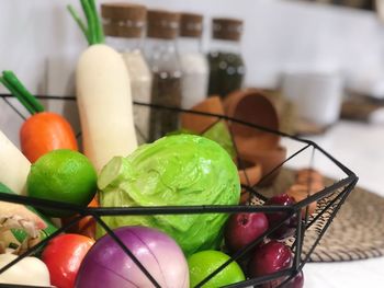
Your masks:
M139 4L102 3L101 16L106 36L140 37L147 18L147 9Z

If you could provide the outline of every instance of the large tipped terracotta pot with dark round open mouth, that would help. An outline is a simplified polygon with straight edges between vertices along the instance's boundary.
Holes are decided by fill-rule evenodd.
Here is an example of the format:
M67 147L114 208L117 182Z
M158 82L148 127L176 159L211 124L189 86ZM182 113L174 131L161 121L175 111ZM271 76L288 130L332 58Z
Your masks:
M224 110L227 116L258 125L272 130L279 130L279 116L273 103L259 90L248 89L230 93L224 99ZM252 139L257 149L267 150L278 147L280 136L244 124L231 122L229 129L234 135L236 146L242 148L245 139ZM253 147L255 148L255 147Z

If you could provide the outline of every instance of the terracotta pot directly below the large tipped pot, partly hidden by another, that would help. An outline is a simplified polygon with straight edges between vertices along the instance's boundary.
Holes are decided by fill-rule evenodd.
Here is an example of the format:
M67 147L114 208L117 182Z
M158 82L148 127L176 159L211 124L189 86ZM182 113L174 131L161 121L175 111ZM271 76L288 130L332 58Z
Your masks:
M281 168L273 171L282 164L286 158L286 148L278 146L269 150L252 149L251 151L241 151L240 158L250 159L256 163L260 163L262 169L262 180L258 183L259 186L269 186L279 175ZM273 172L272 172L273 171ZM272 173L271 173L272 172ZM271 173L270 175L268 175Z

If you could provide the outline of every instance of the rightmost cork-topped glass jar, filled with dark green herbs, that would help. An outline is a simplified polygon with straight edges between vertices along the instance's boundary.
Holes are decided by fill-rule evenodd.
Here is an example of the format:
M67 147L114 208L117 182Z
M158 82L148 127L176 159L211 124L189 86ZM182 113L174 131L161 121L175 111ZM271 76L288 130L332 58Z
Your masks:
M210 95L226 96L242 85L245 65L240 54L242 21L212 20L212 44L207 56L210 65Z

